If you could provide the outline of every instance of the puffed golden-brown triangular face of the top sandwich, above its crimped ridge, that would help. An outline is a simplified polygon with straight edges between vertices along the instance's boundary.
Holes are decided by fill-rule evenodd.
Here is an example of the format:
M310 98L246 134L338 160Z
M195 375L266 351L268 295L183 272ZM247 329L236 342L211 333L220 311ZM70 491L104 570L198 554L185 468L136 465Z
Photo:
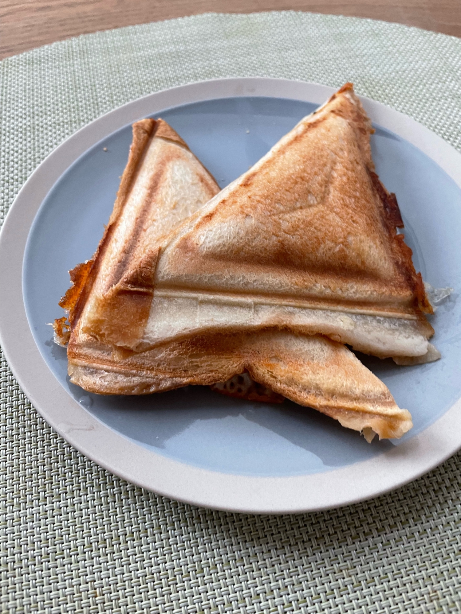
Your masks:
M374 173L371 122L347 85L200 209L156 287L270 295L377 314L431 312L400 211Z

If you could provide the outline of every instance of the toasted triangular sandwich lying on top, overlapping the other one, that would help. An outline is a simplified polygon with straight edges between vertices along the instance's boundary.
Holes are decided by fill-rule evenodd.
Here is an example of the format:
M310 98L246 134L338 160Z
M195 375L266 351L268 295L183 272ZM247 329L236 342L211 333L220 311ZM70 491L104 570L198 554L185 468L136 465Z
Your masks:
M140 313L138 293L149 297L128 337L92 306L85 330L140 350L202 332L287 327L374 356L429 359L432 309L396 231L395 196L374 172L371 132L345 85L111 286L128 318Z

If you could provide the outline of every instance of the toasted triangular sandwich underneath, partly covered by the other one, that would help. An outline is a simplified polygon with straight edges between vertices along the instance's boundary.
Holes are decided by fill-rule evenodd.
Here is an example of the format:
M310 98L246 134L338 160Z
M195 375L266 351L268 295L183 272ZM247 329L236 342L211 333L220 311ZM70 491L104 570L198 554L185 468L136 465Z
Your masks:
M168 185L171 181L176 185ZM344 426L363 430L368 439L374 432L380 437L400 437L411 427L408 411L398 408L384 384L352 352L322 336L277 330L205 335L134 352L101 343L86 330L85 314L92 314L88 306L99 306L99 317L109 327L109 314L123 312L113 300L114 284L107 280L115 279L120 289L117 279L130 279L126 272L130 267L133 279L133 263L146 262L146 252L155 252L162 235L218 190L170 126L161 120L133 126L130 157L108 228L95 257L71 272L74 285L61 301L68 309L71 331L65 330L64 318L55 324L58 341L66 343L70 337L71 381L99 394L146 394L186 384L217 383L215 389L250 400L280 402L284 395L314 406ZM117 300L121 302L125 292L134 304L139 300L141 310L149 292L140 281L149 278L138 273L136 279L136 288L124 282ZM118 325L126 339L138 321L119 318Z

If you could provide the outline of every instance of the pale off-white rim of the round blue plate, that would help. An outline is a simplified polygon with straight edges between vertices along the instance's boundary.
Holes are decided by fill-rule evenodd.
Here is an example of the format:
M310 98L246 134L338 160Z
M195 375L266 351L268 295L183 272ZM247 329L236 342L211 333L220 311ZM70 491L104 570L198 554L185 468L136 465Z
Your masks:
M401 445L328 472L267 477L195 467L143 448L90 414L55 379L30 330L22 292L30 227L52 186L90 147L122 126L168 107L236 96L321 104L334 91L326 85L266 77L213 79L157 91L83 126L50 152L23 185L0 231L4 265L0 269L0 343L18 384L37 411L92 461L142 488L192 505L242 513L295 513L342 507L384 494L427 473L461 448L460 398L436 422ZM426 153L461 188L461 154L454 147L395 109L360 98L374 122Z

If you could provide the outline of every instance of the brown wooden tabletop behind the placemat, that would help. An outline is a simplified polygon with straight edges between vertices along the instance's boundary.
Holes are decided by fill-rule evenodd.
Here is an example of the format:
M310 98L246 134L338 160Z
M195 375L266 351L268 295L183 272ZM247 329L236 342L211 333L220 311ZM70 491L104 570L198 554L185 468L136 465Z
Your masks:
M398 21L461 37L461 0L0 0L0 58L136 23L286 9Z

